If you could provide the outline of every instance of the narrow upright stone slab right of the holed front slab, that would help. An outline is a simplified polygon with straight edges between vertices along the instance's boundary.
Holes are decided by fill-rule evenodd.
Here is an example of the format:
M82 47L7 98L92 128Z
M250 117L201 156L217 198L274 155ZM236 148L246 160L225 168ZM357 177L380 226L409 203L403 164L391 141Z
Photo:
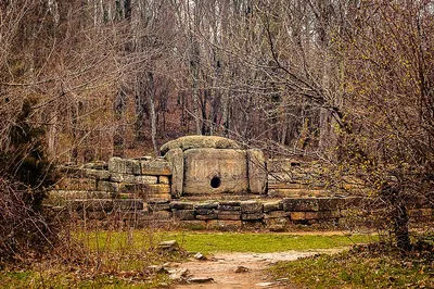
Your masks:
M267 171L261 150L247 150L248 190L251 193L267 193Z

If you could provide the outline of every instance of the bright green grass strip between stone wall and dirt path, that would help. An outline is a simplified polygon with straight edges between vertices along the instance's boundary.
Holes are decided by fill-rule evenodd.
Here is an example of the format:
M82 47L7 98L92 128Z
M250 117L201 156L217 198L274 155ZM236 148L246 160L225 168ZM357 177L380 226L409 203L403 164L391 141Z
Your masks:
M86 243L92 250L125 250L126 248L152 248L162 240L175 239L187 251L202 252L255 252L306 251L331 249L376 240L370 235L289 235L252 233L157 233L148 231L104 233L86 235Z

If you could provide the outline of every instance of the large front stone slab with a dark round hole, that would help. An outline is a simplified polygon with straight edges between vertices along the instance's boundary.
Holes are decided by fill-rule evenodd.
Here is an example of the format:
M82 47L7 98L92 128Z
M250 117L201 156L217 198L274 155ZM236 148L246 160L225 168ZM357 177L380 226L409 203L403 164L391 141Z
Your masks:
M183 192L241 193L248 189L245 151L191 149L184 151Z

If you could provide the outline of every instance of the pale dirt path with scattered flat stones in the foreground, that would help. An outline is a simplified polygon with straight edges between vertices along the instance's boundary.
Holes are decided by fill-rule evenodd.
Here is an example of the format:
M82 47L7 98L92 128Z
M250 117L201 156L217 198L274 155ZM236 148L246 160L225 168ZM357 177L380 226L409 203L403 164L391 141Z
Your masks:
M336 253L339 251L341 250L289 251L278 253L217 253L206 261L194 260L187 263L174 264L176 267L173 273L183 273L184 277L182 279L184 281L183 284L176 284L170 288L296 288L288 279L271 279L267 275L266 268L278 261L294 261L317 253Z

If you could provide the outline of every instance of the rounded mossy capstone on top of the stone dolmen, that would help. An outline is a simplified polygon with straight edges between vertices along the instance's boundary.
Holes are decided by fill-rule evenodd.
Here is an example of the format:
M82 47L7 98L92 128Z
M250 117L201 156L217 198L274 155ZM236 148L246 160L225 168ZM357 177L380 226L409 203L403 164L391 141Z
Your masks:
M169 150L181 149L182 151L189 149L213 148L213 149L239 149L240 146L230 139L217 136L186 136L175 140L170 140L163 144L159 149L164 155Z

